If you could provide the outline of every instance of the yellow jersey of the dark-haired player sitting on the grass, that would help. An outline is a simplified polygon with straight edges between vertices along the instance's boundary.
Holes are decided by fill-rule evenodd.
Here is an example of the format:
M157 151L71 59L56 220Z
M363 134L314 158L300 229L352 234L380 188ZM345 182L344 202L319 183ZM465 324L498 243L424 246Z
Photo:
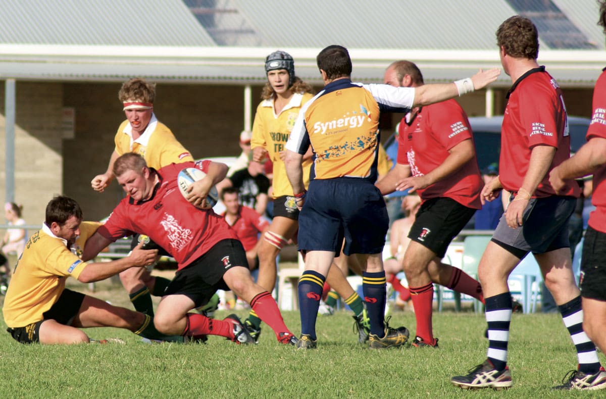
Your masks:
M92 236L100 223L82 222L72 250L44 224L25 244L4 298L4 321L8 327L25 327L42 320L65 289L65 278L78 278L86 262L76 251ZM81 255L81 251L80 251Z

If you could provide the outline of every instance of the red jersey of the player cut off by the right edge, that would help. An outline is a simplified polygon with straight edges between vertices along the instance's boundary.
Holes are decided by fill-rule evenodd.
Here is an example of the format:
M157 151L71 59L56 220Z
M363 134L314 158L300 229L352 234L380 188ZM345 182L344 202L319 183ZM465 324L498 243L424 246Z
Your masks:
M606 138L606 69L604 71L593 89L593 113L587 130L587 141L594 137ZM596 206L596 210L589 216L589 226L606 233L606 165L593 172L591 203Z

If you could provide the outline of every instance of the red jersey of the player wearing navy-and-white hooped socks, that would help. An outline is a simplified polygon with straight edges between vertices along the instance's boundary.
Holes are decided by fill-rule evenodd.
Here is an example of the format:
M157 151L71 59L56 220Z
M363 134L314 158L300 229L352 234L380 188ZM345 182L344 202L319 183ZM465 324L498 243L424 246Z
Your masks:
M518 192L528 172L530 153L539 144L556 147L549 170L570 158L570 133L564 96L556 79L545 67L522 75L507 93L507 107L501 127L499 180L504 189ZM533 197L556 195L549 184L549 173L534 191ZM562 195L579 196L573 179L566 181Z

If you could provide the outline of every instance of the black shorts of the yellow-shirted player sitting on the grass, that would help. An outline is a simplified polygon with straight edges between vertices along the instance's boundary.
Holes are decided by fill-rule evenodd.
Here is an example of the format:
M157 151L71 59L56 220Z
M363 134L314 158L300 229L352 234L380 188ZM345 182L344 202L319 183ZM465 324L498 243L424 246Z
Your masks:
M25 327L8 328L8 334L22 344L32 344L40 341L39 332L42 322L55 320L59 324L71 326L72 321L78 315L84 301L84 293L64 289L56 303L42 314L40 321L28 324Z

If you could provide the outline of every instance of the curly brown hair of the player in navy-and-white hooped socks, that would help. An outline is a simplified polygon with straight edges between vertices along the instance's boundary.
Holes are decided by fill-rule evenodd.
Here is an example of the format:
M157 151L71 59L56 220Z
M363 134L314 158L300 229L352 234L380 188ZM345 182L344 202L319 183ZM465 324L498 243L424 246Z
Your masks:
M514 58L537 59L539 56L539 32L528 18L514 15L505 19L496 31L499 49Z

